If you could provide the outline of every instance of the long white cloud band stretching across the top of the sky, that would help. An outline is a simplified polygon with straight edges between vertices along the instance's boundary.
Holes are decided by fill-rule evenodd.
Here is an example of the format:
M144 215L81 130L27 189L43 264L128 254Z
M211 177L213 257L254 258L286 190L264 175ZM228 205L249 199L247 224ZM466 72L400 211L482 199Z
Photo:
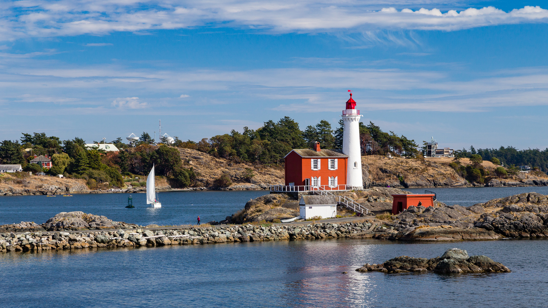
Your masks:
M0 40L19 37L105 35L196 26L228 26L270 32L373 30L460 30L465 28L548 22L548 10L526 6L510 12L495 7L442 10L430 1L402 1L401 7L348 0L153 0L153 1L15 1L0 2ZM423 5L431 9L406 9ZM447 11L445 11L447 10ZM146 33L146 32L144 32ZM90 43L99 45L104 43Z

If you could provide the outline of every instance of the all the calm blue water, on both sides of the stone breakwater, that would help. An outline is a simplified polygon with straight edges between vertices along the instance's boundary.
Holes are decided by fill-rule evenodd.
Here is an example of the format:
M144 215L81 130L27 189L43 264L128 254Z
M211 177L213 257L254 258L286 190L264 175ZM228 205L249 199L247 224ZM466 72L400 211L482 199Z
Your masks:
M430 189L470 205L548 187ZM424 192L416 189L414 192ZM82 210L146 224L220 220L265 191L162 193L163 207L125 209L127 195L0 197L1 224ZM135 201L143 194L133 195ZM139 206L139 202L134 202ZM193 204L193 206L191 205ZM512 273L448 276L354 271L448 248L484 254ZM2 307L545 307L548 240L395 243L326 239L0 254ZM342 274L341 272L348 272Z

